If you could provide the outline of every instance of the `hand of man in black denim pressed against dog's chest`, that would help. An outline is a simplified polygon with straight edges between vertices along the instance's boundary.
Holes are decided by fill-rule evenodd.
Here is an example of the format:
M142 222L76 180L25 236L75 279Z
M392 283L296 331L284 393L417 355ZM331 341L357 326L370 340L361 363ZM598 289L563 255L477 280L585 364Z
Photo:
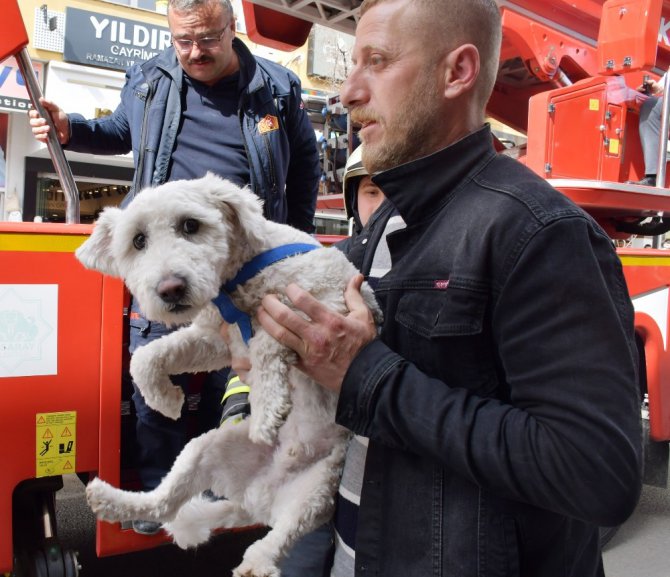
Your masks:
M298 368L333 391L340 390L353 359L377 336L372 312L360 292L362 283L363 276L357 275L347 285L346 316L334 312L295 284L286 288L286 296L307 319L275 295L266 296L258 311L263 328L298 353Z

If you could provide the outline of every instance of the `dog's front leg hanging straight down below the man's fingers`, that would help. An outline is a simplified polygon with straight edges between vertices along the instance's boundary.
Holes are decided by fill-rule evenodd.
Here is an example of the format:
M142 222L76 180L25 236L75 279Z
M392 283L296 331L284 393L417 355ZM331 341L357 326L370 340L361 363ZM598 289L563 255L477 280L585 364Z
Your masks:
M291 410L288 373L297 356L263 330L249 341L249 354L249 438L254 443L272 445Z

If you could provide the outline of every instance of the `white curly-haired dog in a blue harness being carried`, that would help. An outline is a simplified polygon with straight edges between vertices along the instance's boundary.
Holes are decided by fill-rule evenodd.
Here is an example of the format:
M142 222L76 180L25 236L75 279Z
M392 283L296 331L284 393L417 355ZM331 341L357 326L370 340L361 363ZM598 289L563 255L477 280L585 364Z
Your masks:
M154 409L181 413L183 393L171 374L221 369L237 356L252 365L248 419L190 441L153 491L94 479L89 505L107 521L168 523L180 547L207 540L215 528L264 524L271 530L233 575L278 576L295 541L332 513L348 434L335 424L336 395L295 369L295 353L253 315L264 295L283 294L291 282L344 313L344 288L357 271L339 250L266 220L252 192L212 174L144 190L125 210L106 208L76 256L123 278L149 319L186 325L132 357L133 379ZM365 284L363 295L379 321ZM230 349L219 332L222 314L239 320ZM226 500L207 501L206 489Z

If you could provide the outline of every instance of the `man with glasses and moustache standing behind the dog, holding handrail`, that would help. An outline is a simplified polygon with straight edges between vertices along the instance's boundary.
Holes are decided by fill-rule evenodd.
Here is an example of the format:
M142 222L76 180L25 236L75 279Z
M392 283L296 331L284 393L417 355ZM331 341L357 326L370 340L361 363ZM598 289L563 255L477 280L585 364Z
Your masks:
M94 154L133 151L132 192L212 171L249 185L264 201L265 216L313 231L320 177L314 130L303 109L300 81L289 70L254 57L235 38L229 0L170 0L172 46L126 73L121 103L108 117L86 120L44 101L68 149ZM36 111L30 124L46 142L48 126ZM131 311L131 352L168 329ZM200 402L201 428L218 425L225 374L207 375ZM186 376L175 377L186 386ZM137 389L138 471L143 488L156 487L188 441L186 419L151 410ZM156 523L135 521L141 533Z

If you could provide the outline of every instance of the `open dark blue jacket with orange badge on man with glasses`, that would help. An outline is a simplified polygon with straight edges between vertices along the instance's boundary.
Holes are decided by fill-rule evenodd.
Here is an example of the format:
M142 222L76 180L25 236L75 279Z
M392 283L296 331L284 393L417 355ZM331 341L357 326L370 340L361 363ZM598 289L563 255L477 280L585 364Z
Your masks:
M239 39L239 119L251 168L251 188L264 200L265 216L306 232L314 230L320 177L314 130L303 109L300 80L286 68L254 57ZM107 117L70 115L69 150L126 154L135 162L133 194L165 182L181 119L183 70L173 47L126 73L121 102ZM280 129L260 133L271 115ZM216 166L212 166L216 172Z

